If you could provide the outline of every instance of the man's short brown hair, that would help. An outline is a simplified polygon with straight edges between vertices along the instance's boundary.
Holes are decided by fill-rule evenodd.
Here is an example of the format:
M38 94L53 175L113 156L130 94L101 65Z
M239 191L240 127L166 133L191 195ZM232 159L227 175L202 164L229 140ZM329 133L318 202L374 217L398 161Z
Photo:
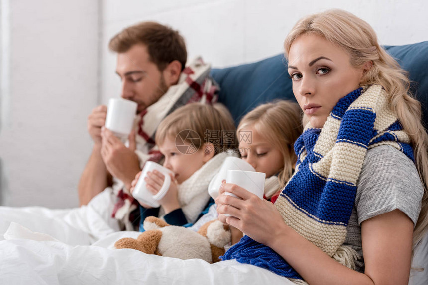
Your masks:
M142 22L127 27L115 35L108 44L111 51L127 52L133 45L144 44L150 60L163 71L169 63L178 60L183 71L187 51L183 37L178 31L156 22Z

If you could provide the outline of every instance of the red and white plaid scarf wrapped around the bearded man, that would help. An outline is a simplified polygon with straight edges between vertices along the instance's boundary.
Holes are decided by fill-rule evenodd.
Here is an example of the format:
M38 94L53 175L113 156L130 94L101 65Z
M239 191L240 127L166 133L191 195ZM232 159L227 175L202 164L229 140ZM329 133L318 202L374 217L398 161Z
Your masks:
M219 87L210 77L210 71L209 64L204 63L201 57L196 58L182 71L176 85L171 86L158 102L136 116L135 153L141 169L147 161L160 162L163 158L154 141L156 128L163 118L186 104L213 104L217 101ZM117 202L111 216L120 220L126 230L134 230L134 226L139 223L139 212L134 211L138 210L138 202L118 179L113 180L112 188Z

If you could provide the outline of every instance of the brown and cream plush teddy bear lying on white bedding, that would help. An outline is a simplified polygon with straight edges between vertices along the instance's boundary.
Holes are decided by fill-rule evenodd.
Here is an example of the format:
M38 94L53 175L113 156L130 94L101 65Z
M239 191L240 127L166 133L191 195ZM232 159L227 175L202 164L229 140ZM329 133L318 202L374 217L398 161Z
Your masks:
M132 248L147 254L176 257L181 259L200 258L208 263L219 261L230 243L231 233L227 225L219 220L205 223L195 232L191 229L169 225L157 217L144 220L145 231L137 239L122 238L114 247Z

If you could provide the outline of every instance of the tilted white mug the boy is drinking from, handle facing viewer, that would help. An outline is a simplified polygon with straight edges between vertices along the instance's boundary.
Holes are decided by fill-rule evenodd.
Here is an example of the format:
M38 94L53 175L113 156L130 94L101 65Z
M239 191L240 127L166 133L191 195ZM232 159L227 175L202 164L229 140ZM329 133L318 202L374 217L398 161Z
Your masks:
M153 195L147 189L147 183L144 180L144 178L147 176L147 172L153 172L153 170L157 170L165 176L165 180L162 184L161 189L155 195ZM134 191L132 191L132 196L146 205L149 205L151 207L159 207L160 205L157 201L165 196L165 194L168 192L169 186L171 185L170 174L174 173L168 168L163 167L162 165L156 162L147 161L141 172L140 178L138 178Z

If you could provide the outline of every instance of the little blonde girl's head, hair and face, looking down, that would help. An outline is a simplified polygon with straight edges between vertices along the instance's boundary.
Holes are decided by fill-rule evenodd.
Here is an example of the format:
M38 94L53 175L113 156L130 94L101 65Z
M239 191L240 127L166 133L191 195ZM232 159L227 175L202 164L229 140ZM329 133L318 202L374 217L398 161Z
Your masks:
M266 177L278 178L276 188L265 187L265 196L272 202L293 173L297 159L293 144L302 133L301 122L299 106L286 100L260 105L239 122L241 158Z

